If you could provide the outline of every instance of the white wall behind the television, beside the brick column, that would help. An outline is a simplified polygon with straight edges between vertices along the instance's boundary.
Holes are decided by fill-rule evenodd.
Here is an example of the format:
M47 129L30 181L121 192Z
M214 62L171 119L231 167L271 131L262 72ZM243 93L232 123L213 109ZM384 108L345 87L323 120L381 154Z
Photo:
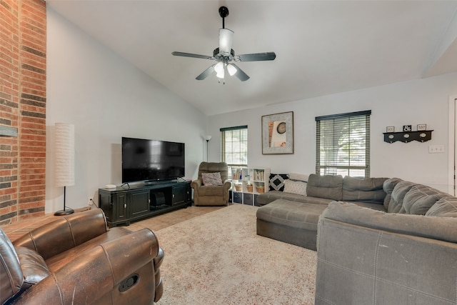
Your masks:
M76 185L66 205L87 206L121 184L121 137L186 144L186 177L206 160L207 116L127 63L52 9L47 12L46 213L63 208L54 186L54 124L75 125ZM97 200L96 200L97 201Z

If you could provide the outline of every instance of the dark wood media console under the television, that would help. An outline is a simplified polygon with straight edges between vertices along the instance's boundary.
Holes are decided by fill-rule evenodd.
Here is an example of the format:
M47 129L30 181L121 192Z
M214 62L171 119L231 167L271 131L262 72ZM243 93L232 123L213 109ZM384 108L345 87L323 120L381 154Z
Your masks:
M191 181L161 181L99 189L99 208L113 227L191 206L191 197Z

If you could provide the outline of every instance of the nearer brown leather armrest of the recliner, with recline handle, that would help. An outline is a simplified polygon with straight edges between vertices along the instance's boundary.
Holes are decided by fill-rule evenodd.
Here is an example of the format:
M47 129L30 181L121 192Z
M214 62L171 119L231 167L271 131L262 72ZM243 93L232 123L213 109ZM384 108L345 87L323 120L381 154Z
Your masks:
M149 289L141 289L141 294L146 295L136 297L151 302L155 289L153 260L158 253L159 242L154 232L149 229L132 232L82 252L74 261L24 291L15 304L35 304L37 300L40 304L97 304L110 291L121 291L116 288L144 266L150 272L143 276L146 278L132 279L130 284L134 285L130 289L146 282ZM124 301L146 304L138 299Z

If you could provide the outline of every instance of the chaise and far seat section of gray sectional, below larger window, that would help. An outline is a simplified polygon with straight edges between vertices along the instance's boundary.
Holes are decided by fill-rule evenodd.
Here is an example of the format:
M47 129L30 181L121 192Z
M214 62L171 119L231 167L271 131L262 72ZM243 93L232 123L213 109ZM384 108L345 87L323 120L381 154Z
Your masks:
M306 196L268 191L257 196L257 234L316 250L317 222L332 201L351 201L384 210L387 178L357 179L342 176L308 177Z

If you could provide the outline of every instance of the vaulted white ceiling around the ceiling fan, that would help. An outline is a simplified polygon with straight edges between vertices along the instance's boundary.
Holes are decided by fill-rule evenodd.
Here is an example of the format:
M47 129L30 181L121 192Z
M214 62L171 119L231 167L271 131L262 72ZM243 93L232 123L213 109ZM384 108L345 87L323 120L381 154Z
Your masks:
M457 1L46 0L51 9L205 114L457 71ZM274 61L240 62L251 79L213 74L222 27L236 54L274 51Z

